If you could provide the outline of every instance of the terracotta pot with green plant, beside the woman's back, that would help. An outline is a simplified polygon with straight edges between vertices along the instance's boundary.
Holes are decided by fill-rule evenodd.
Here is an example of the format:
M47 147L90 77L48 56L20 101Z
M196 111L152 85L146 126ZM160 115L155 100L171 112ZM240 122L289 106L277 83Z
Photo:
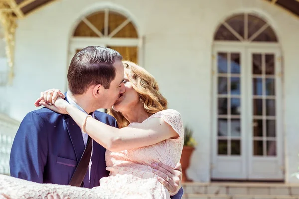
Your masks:
M186 175L186 170L189 167L190 157L191 157L197 143L196 143L195 139L193 138L193 130L191 128L189 128L188 126L186 126L184 128L184 135L185 135L185 137L184 137L185 141L184 141L184 147L183 147L180 163L182 165L182 173L183 173L182 182L187 182L187 181L191 181L191 180L188 179L188 177Z

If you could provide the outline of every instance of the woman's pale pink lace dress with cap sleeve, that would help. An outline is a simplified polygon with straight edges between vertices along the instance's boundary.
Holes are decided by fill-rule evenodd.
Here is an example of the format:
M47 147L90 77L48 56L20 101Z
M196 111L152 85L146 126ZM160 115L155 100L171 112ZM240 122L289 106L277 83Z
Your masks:
M5 194L11 198L47 198L49 193L58 193L61 198L80 199L169 199L168 190L152 172L151 164L162 162L171 167L180 161L184 143L183 123L180 114L172 109L163 110L145 121L160 117L179 135L157 144L121 152L106 151L109 177L100 180L100 187L93 189L66 185L39 184L0 175L0 199ZM129 126L134 126L131 123Z

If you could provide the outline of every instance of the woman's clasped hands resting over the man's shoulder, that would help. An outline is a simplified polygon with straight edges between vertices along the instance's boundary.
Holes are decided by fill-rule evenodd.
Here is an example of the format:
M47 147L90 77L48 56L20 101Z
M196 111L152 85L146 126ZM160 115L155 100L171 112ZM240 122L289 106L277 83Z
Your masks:
M36 107L41 105L60 114L67 114L67 107L71 106L66 100L65 95L59 89L50 89L40 93L40 97L34 103Z

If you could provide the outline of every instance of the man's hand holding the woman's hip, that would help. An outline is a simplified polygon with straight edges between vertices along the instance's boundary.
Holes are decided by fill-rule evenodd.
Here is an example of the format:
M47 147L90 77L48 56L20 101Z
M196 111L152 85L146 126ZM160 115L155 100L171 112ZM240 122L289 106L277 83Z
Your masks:
M171 196L178 193L182 182L182 165L177 163L174 168L157 162L151 165L153 173L158 175L158 180L168 189Z

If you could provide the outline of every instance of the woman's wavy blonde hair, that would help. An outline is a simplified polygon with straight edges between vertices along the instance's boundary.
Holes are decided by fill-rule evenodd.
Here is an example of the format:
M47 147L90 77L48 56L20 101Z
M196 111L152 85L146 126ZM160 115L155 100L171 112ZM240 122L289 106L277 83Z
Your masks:
M159 86L156 79L144 68L130 61L123 61L125 66L125 74L133 89L138 93L139 100L144 106L144 109L150 115L167 109L167 100L159 91ZM108 114L112 115L119 128L129 125L129 121L121 112L113 109L108 109Z

